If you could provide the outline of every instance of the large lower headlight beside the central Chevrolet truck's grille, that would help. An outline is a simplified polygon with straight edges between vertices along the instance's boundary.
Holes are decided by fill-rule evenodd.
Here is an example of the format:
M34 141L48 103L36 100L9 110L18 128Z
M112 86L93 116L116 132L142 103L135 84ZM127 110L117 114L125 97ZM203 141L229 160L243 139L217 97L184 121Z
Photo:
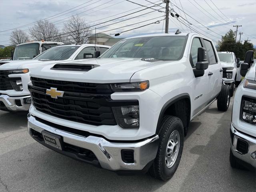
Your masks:
M138 105L112 107L116 121L122 128L140 127L140 109Z

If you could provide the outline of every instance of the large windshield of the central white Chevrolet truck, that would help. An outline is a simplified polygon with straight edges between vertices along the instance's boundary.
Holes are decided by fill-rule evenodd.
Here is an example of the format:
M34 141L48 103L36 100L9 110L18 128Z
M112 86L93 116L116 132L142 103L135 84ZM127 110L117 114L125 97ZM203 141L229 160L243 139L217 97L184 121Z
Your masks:
M187 36L154 36L121 40L100 58L154 58L179 60L182 58Z

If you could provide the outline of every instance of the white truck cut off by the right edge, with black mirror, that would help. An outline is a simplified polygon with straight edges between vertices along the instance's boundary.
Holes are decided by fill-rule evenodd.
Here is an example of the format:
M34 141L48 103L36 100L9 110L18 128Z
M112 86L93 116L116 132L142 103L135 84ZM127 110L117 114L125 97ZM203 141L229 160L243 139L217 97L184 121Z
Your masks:
M240 68L245 78L234 97L230 126L230 165L234 168L256 168L256 64L252 57L253 51L246 52Z

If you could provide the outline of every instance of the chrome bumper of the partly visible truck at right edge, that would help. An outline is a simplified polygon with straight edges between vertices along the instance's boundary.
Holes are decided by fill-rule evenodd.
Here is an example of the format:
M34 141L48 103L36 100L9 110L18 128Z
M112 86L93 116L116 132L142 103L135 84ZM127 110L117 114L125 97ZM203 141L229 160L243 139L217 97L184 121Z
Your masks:
M232 138L230 138L230 146L234 156L256 168L256 158L254 156L254 154L256 154L256 139L237 131L232 124L230 125L230 133L233 135L233 143ZM236 148L239 138L249 144L249 149L246 154L241 154Z

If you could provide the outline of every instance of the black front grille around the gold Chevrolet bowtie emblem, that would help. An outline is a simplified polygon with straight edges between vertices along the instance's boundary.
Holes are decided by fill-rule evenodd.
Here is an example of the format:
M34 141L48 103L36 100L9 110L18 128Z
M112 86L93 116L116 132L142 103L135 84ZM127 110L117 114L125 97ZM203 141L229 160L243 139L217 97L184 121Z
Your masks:
M110 105L109 84L68 82L31 77L28 86L36 110L46 114L91 125L116 125ZM57 99L46 95L46 89L64 91Z

